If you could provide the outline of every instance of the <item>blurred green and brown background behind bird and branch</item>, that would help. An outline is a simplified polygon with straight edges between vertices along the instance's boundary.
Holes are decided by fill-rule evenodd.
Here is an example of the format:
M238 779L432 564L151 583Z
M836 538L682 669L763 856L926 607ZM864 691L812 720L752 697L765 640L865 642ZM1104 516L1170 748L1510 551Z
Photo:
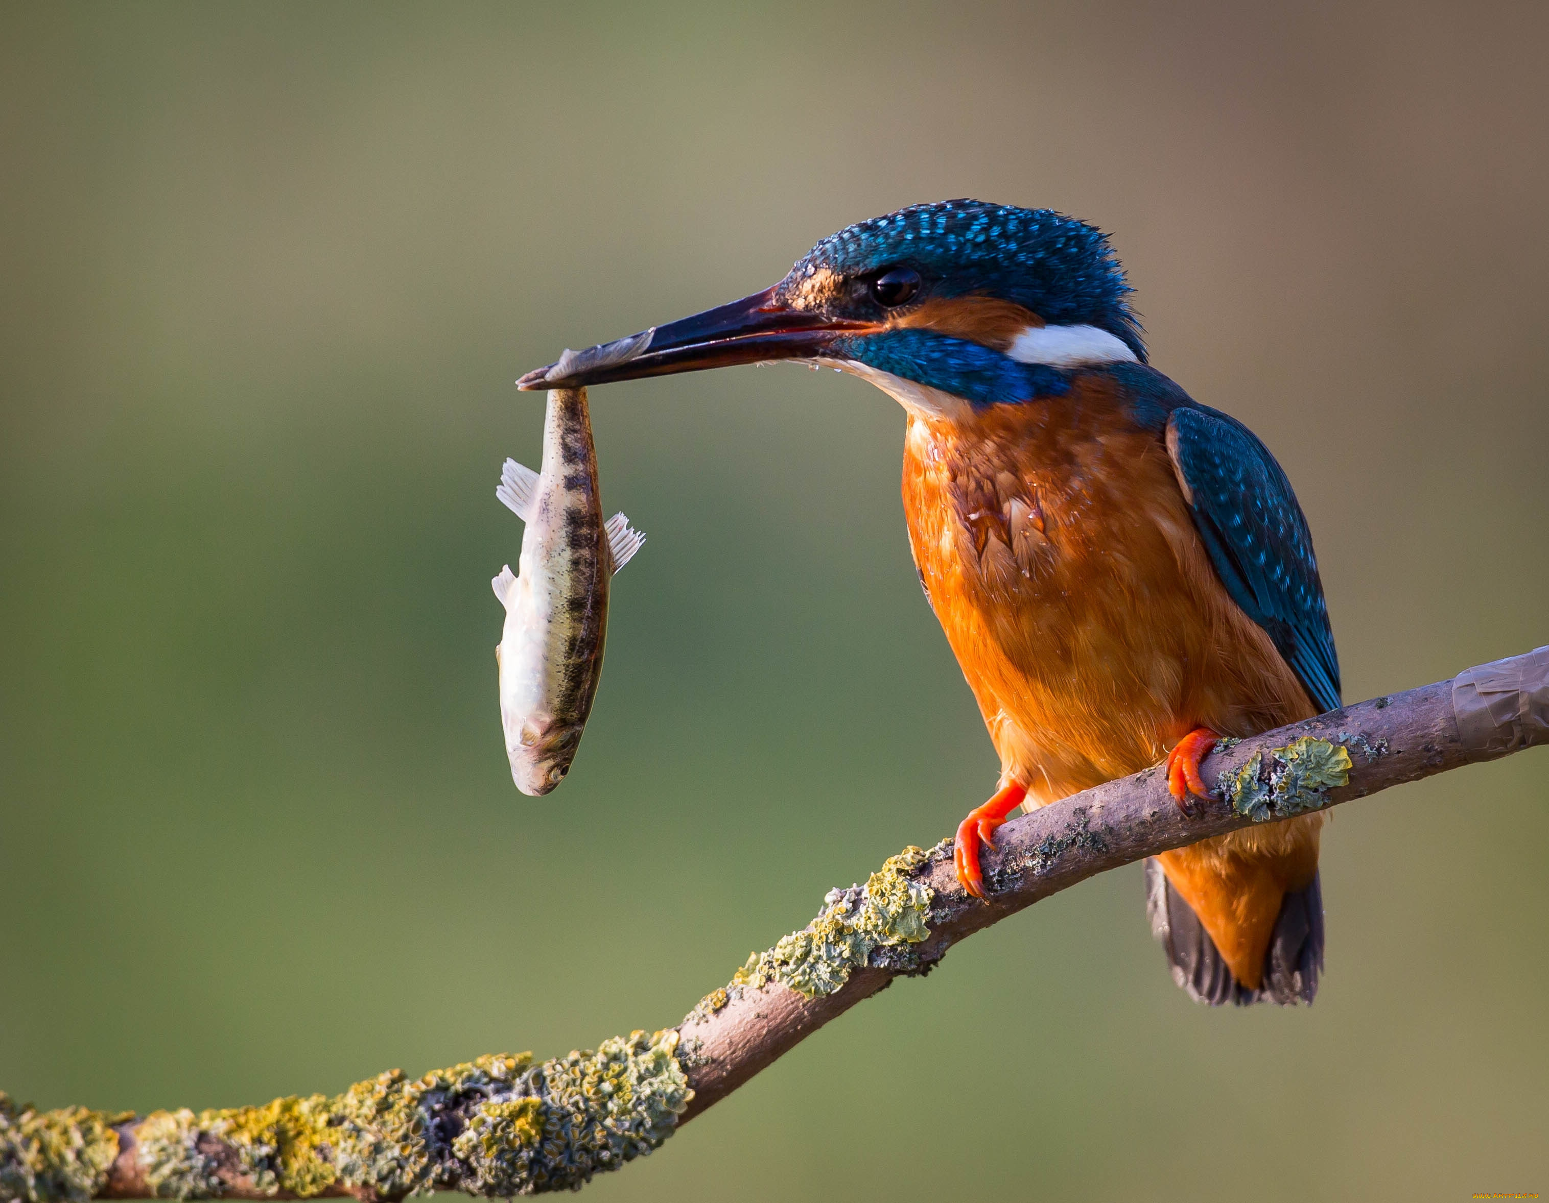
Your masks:
M0 1087L228 1105L674 1023L996 762L902 413L598 389L649 533L517 794L511 381L906 203L1114 232L1297 482L1346 697L1549 641L1541 5L6 5ZM1549 756L1341 810L1312 1011L1208 1011L1140 872L824 1030L598 1198L1549 1191Z

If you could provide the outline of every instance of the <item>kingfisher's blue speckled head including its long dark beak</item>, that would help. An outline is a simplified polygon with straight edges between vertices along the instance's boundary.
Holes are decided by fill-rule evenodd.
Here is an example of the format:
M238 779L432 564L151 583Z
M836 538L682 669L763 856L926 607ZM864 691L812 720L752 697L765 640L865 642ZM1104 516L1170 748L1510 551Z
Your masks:
M1058 396L1072 373L1146 361L1129 293L1108 235L1084 221L974 200L914 204L823 238L762 293L567 351L520 384L801 359L909 406L940 393L974 407Z

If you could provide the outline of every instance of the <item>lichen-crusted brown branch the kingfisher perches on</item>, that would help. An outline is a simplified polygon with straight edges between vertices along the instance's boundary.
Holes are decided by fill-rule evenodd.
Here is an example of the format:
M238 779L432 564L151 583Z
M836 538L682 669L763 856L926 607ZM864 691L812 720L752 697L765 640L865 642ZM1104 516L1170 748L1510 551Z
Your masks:
M1549 743L1549 647L1450 681L1346 706L1208 757L1219 797L1183 814L1157 768L1005 824L984 859L988 901L957 886L951 842L906 848L864 887L754 954L677 1026L542 1065L496 1054L342 1095L144 1118L36 1112L0 1093L0 1200L397 1200L578 1188L658 1147L835 1016L959 940L1050 893L1255 822ZM1208 777L1207 777L1208 779Z

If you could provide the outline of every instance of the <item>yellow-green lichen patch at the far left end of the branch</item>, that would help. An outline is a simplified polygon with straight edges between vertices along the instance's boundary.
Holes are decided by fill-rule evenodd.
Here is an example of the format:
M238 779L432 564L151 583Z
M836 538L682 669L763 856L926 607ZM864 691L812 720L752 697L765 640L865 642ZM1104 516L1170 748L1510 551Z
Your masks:
M39 1112L0 1090L0 1198L91 1198L118 1157L113 1124L130 1118L85 1107Z

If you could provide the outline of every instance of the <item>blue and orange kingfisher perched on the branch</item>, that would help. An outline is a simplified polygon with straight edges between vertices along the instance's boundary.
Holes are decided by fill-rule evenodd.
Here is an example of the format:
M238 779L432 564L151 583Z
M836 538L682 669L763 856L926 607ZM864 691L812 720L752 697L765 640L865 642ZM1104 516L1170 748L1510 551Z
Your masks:
M925 595L1001 759L957 828L1152 765L1185 811L1200 760L1340 704L1312 536L1275 457L1151 367L1100 229L1052 209L915 204L823 238L779 283L528 372L578 387L801 361L903 406L903 511ZM1146 862L1174 980L1222 1003L1310 1003L1321 813Z

